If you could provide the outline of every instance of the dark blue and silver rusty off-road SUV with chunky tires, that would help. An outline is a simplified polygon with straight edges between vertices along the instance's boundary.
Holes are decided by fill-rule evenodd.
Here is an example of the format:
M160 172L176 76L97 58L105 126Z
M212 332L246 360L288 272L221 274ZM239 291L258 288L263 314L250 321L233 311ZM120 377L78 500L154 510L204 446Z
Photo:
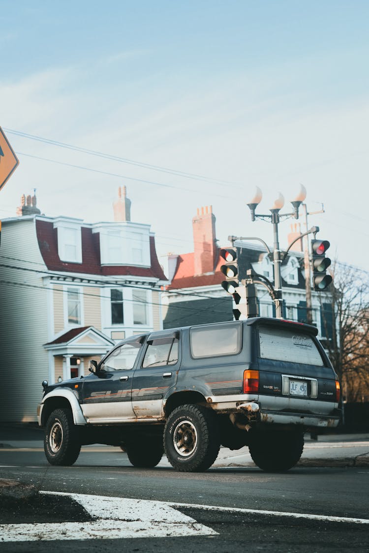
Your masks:
M304 432L339 423L340 385L314 326L248 319L127 338L91 374L48 385L38 406L51 465L81 445L121 446L136 467L165 451L179 471L205 471L220 446L250 448L285 471Z

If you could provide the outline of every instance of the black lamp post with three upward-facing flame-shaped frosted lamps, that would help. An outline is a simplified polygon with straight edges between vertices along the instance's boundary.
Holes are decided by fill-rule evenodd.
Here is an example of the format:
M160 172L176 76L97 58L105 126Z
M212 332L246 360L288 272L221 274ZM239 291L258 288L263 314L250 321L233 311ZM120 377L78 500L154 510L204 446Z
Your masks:
M278 238L278 224L280 218L295 217L299 218L299 207L306 197L306 190L304 185L300 185L299 194L292 200L293 213L279 213L279 211L284 206L284 197L279 193L278 198L274 201L270 211L271 215L256 215L255 210L259 205L263 197L262 191L259 187L256 187L256 194L253 196L248 207L251 211L251 221L255 221L256 218L263 219L264 221L271 221L273 225L273 267L274 267L274 290L276 292L276 298L274 302L276 304L276 317L282 319L282 280L280 276L280 264L282 263L282 255L279 249L279 238Z

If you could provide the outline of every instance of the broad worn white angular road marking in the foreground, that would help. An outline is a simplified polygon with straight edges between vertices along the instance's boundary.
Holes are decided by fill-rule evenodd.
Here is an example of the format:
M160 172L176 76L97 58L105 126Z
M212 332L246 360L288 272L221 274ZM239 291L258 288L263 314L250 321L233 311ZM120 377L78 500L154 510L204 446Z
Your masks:
M50 541L209 536L217 532L199 524L168 503L63 492L79 502L95 520L84 523L3 524L1 541Z

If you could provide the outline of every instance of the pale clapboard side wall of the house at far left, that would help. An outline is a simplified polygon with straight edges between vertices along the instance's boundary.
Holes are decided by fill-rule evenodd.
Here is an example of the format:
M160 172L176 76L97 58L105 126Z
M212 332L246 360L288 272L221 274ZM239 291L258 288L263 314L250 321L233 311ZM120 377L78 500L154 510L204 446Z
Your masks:
M48 378L45 275L3 266L46 270L34 218L3 221L0 256L0 421L35 421Z

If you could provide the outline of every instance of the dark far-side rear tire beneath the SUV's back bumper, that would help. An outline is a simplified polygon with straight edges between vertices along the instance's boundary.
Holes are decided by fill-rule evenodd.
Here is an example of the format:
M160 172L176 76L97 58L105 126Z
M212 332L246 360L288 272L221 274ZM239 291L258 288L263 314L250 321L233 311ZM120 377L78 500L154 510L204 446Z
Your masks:
M253 462L266 472L285 472L302 456L304 434L298 430L252 431L248 446Z

